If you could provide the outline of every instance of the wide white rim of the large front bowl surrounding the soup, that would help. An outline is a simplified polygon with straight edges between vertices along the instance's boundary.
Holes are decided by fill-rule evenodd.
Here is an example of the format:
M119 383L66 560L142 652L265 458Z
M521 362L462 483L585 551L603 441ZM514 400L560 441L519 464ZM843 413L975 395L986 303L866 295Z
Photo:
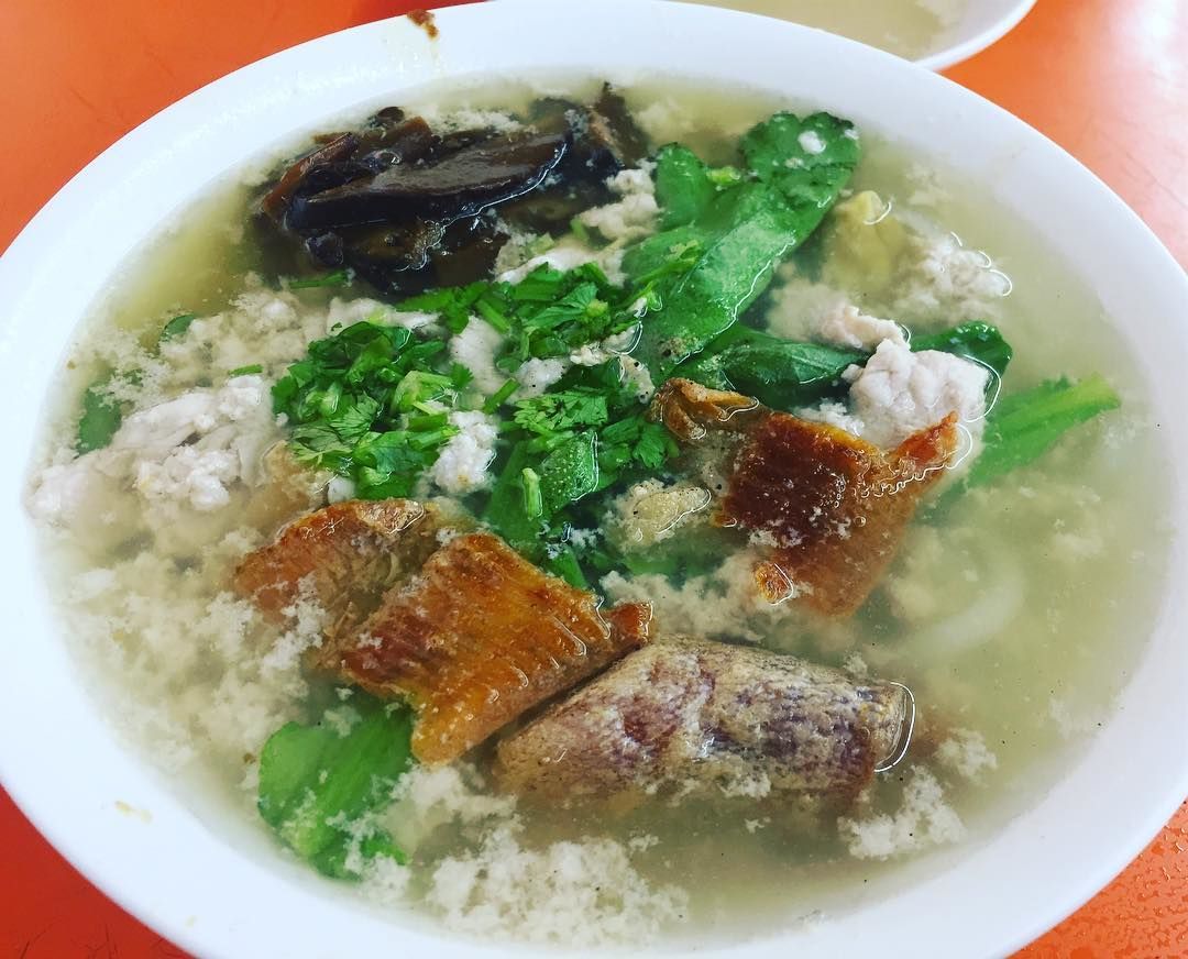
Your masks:
M353 105L399 101L412 86L466 74L551 69L630 82L644 68L819 103L984 184L1063 252L1150 378L1176 471L1169 519L1181 532L1169 582L1188 582L1188 283L1138 217L1056 146L904 61L710 7L510 0L448 10L437 24L435 42L404 19L358 27L195 93L75 177L0 261L0 435L10 462L0 477L0 772L78 869L203 957L498 952L361 910L270 853L263 831L245 827L229 841L229 826L208 826L127 751L82 692L21 505L37 410L71 328L121 260L245 157ZM1188 791L1186 622L1188 592L1169 589L1154 635L1133 637L1144 651L1114 718L1062 782L992 841L841 921L742 944L734 954L1000 955L1069 913L1139 852Z

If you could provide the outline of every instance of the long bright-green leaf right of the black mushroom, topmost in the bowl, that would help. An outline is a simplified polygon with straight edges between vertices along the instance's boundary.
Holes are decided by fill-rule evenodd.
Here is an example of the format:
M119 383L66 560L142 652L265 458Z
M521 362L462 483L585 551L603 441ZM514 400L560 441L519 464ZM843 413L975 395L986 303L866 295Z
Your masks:
M741 150L751 178L704 204L700 188L678 189L691 179L691 164L675 158L681 169L669 193L678 201L676 220L702 204L695 220L650 238L624 258L624 269L640 283L662 257L696 251L689 269L657 284L659 308L644 323L636 358L656 381L754 302L781 260L820 225L859 158L853 126L823 113L803 120L776 114L742 138Z

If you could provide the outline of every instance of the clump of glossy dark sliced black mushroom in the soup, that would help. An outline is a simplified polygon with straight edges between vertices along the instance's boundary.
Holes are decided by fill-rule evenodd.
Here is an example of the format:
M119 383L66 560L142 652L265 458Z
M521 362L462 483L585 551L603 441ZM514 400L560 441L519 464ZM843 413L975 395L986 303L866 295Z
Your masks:
M397 107L318 138L260 201L270 228L317 269L349 266L398 296L487 276L503 225L568 229L645 141L608 86L593 105L538 101L525 128L437 134Z

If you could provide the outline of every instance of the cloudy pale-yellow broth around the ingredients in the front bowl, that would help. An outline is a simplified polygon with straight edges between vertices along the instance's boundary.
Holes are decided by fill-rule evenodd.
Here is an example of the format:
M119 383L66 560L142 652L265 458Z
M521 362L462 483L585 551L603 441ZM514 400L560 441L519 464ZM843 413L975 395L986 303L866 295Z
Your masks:
M530 94L450 97L403 106L435 103L446 115L455 105L514 108ZM710 160L728 160L740 132L786 106L670 86L640 86L627 99L655 144L678 139ZM1101 372L1121 409L1070 433L1036 465L922 510L890 573L848 620L822 625L795 610L740 606L732 583L746 569L728 562L683 583L623 573L602 587L615 600L651 600L671 632L701 630L904 683L921 715L942 718L929 721L943 731L917 737L840 822L745 796L628 812L516 809L486 783L480 750L473 763L411 774L385 819L412 850L410 864L361 884L381 908L419 903L462 932L589 942L728 935L757 920L770 929L839 914L912 871L956 860L1036 801L1108 720L1146 636L1163 566L1164 473L1143 384L1100 308L1000 207L891 145L865 147L851 189L876 190L890 215L930 229L934 246L948 244L950 259L933 272L912 266L892 302L861 282L842 291L920 332L996 323L1016 351L1005 393ZM254 430L230 448L239 465L227 467L229 480L182 488L164 468L150 478L160 492L145 505L113 479L88 493L90 522L48 528L45 537L65 633L88 667L99 667L105 707L154 763L202 784L200 803L235 824L255 816L267 736L287 720L349 707L347 693L301 669L302 651L318 642L317 610L298 608L282 629L228 589L241 557L308 509L299 475L280 482L253 473L285 433L267 412L240 415L239 405L259 400L328 326L365 318L372 308L350 302L374 296L362 284L278 296L276 273L292 266L261 251L246 216L251 193L240 183L220 188L114 280L53 391L45 453L58 467L70 459L64 448L83 386L129 358L146 368L126 385L135 402L152 391L168 398L221 387L227 371L263 365L251 381L236 380L239 392L223 387L208 411ZM987 285L982 272L969 272L977 255L960 272L948 231L967 250L986 251L981 265L992 259L1001 275ZM794 335L814 296L813 284L782 271L747 321ZM192 342L162 345L156 360L137 352L138 335L178 314L198 315L185 333Z

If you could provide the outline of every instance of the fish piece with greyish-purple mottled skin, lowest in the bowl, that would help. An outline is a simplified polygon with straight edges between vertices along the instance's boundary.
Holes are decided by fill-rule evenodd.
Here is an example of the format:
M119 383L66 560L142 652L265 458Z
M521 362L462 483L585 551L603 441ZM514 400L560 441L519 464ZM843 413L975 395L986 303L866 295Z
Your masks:
M866 682L748 646L657 641L498 747L501 789L544 801L810 797L849 802L902 755L912 707Z

